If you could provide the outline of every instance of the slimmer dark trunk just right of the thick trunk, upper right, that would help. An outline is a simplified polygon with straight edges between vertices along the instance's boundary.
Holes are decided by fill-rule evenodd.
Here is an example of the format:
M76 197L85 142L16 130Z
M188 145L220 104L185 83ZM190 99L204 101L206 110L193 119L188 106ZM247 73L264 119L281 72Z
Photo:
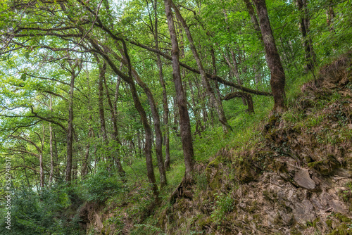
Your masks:
M301 11L299 26L303 37L304 50L306 51L306 68L310 71L313 71L315 66L315 53L313 49L312 39L308 35L310 31L310 20L307 10L307 0L296 0L296 4L298 10Z

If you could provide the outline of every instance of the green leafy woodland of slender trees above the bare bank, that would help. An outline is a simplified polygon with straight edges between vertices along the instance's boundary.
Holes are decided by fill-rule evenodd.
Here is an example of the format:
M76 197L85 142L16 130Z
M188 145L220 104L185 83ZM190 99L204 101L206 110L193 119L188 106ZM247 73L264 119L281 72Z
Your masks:
M348 0L1 1L1 186L11 160L22 197L82 183L104 201L142 181L158 201L170 182L187 188L213 136L284 112L299 77L351 51L351 10Z

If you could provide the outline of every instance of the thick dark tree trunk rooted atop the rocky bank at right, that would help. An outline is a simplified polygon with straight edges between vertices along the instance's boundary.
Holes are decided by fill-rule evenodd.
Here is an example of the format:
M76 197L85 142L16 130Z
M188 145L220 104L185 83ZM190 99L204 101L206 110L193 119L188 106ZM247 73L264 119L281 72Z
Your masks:
M270 69L270 74L271 74L270 87L272 90L272 96L274 97L273 111L275 113L282 113L282 111L286 108L284 104L284 100L285 100L284 68L282 67L279 53L277 51L277 47L275 44L275 39L272 34L265 0L253 0L253 2L257 8L258 18L260 22L260 30L263 35L265 52L268 56L268 67Z

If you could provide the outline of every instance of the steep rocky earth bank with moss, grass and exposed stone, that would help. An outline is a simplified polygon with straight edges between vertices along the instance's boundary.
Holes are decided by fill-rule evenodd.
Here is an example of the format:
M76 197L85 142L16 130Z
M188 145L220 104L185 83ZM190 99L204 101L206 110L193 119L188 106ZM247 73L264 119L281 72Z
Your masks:
M322 68L286 113L196 165L195 184L160 205L85 205L87 234L352 234L351 61Z

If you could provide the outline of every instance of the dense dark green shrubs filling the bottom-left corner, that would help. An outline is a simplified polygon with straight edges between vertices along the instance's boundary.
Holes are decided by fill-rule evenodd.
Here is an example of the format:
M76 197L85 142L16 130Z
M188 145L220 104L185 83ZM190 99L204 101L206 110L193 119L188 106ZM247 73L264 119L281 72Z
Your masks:
M23 186L11 196L11 230L1 225L0 234L82 234L77 221L70 221L65 215L70 205L63 186L53 186L41 192ZM0 210L1 217L5 216L4 212Z

